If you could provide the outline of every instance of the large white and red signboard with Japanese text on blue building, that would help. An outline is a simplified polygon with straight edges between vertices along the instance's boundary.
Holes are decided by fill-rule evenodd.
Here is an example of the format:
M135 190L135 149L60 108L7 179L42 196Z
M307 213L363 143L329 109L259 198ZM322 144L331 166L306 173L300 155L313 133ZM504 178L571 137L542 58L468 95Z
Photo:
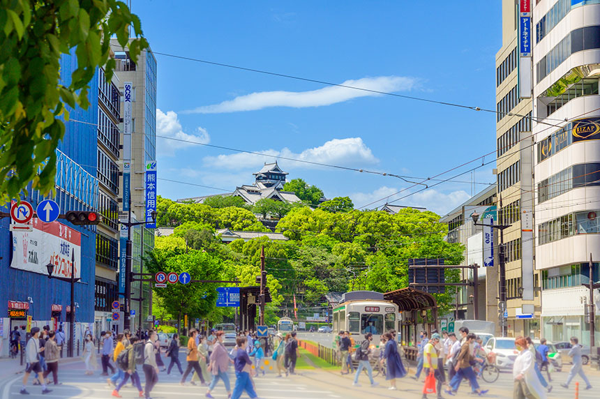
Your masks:
M71 276L71 257L75 255L75 278L80 278L81 233L59 222L31 220L31 232L13 232L13 261L10 267L47 276L48 263L54 264L52 276Z

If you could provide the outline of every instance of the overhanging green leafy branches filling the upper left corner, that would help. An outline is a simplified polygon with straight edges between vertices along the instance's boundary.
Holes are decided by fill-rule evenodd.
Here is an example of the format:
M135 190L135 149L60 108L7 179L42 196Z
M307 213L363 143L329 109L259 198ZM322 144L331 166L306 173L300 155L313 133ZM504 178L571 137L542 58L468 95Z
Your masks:
M96 68L111 79L110 38L135 61L148 46L140 19L117 0L0 0L0 204L29 183L54 190L55 150L71 108L89 106ZM130 27L136 39L129 41ZM77 69L61 77L61 54L72 50ZM67 86L59 84L70 82Z

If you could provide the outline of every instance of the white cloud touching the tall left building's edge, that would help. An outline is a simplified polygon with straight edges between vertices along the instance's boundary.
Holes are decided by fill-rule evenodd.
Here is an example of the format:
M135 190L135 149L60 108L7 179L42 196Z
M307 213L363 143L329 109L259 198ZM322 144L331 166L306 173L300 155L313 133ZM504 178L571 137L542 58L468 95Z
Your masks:
M177 113L167 111L165 114L165 112L158 108L156 109L156 135L177 139L169 140L163 137L156 137L156 152L163 156L174 156L176 150L195 145L188 142L208 144L211 141L211 137L206 129L198 126L194 134L185 133L183 132Z

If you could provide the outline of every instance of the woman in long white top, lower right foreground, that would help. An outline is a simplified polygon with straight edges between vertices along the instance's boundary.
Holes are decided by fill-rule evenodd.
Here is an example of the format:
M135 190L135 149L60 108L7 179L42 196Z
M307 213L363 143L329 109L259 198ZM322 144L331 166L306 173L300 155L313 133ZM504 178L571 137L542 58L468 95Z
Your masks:
M546 390L543 389L535 372L534 354L527 349L525 338L517 337L515 347L519 354L513 366L515 379L513 399L546 399Z

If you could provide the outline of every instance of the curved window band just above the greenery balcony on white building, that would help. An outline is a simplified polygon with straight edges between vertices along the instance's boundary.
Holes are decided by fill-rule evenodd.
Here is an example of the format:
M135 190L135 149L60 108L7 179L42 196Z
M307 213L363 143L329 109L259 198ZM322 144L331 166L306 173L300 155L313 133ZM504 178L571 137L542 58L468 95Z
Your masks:
M536 64L537 83L548 76L571 54L600 48L600 25L571 31Z

